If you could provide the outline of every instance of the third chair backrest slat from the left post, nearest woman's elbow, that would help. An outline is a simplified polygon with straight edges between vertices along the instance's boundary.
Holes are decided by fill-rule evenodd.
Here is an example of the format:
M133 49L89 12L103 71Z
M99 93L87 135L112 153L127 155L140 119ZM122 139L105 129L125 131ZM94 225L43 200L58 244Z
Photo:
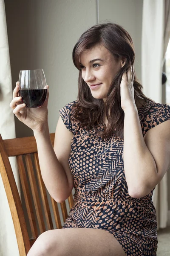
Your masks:
M42 176L41 176L40 164L39 164L37 153L34 153L34 164L35 164L38 184L39 184L39 188L40 188L40 194L41 194L41 198L42 198L42 205L43 205L44 214L45 214L45 221L46 221L48 230L51 230L54 227L53 227L53 222L52 222L52 218L51 218L51 212L50 212L50 207L48 204L48 198L47 198L47 193L45 190L45 185L44 185L44 182L43 182Z

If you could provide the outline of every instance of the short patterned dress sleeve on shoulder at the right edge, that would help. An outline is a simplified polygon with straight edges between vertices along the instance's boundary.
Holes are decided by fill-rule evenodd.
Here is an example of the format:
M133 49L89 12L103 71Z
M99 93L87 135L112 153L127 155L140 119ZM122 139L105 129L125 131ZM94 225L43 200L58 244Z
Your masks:
M170 106L167 104L159 104L153 109L153 118L151 128L170 119Z

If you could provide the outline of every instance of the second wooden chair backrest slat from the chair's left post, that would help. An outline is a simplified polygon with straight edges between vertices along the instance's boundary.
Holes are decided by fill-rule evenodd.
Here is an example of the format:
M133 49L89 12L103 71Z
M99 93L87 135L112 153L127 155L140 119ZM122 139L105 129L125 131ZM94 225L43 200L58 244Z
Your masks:
M40 199L38 197L38 190L37 190L36 180L34 177L34 169L32 166L31 155L26 154L25 160L26 160L26 166L27 166L27 170L28 170L29 182L30 182L30 186L31 186L31 193L32 193L33 201L34 201L35 211L37 214L37 221L38 221L40 233L43 233L43 232L45 232L45 224L44 224L44 220L43 220Z

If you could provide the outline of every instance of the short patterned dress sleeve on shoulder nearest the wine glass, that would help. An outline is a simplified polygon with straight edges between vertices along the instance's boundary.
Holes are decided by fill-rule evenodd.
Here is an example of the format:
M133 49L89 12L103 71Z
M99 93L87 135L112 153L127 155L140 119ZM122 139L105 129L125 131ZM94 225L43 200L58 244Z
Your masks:
M59 114L62 118L62 121L64 122L65 124L65 127L71 131L71 132L74 132L75 131L75 128L76 128L76 124L75 122L73 122L71 120L71 116L72 116L72 108L73 108L73 105L76 103L77 101L74 101L74 102L71 102L71 103L68 103L66 104L63 108L59 109Z

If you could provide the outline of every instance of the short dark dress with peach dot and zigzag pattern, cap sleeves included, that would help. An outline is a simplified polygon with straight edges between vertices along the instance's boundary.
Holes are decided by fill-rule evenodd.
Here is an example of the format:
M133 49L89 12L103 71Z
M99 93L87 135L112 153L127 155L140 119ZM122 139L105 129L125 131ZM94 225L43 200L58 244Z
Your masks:
M156 256L154 189L143 198L130 197L123 165L123 140L114 136L102 140L94 129L85 130L71 121L76 102L59 110L65 126L74 134L68 160L74 177L74 206L62 228L103 229L119 241L126 256ZM144 136L170 119L170 106L146 100L138 113Z

